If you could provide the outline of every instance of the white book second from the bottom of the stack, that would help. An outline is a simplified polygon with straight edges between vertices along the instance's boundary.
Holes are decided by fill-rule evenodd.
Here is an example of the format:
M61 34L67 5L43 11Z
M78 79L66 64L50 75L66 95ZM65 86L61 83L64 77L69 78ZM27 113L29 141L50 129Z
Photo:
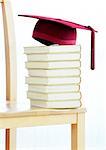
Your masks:
M36 92L27 92L27 98L37 99L44 101L56 101L56 100L79 100L81 99L80 92L69 92L69 93L36 93Z

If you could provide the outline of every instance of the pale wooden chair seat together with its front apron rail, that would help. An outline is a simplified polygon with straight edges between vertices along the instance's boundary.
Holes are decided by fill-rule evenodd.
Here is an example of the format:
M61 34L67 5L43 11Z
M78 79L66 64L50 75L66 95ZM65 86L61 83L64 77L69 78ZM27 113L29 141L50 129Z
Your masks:
M30 103L5 102L0 105L0 128L76 123L77 114L85 108L46 109L30 107Z

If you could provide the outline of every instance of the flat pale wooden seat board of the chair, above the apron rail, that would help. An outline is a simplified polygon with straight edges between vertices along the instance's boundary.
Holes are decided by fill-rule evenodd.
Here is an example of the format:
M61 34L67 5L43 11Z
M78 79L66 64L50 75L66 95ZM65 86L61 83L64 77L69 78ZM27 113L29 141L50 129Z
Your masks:
M22 100L23 101L23 100ZM48 115L70 115L86 112L85 108L77 109L47 109L30 107L28 103L5 102L0 105L0 118L22 117L22 116L48 116Z

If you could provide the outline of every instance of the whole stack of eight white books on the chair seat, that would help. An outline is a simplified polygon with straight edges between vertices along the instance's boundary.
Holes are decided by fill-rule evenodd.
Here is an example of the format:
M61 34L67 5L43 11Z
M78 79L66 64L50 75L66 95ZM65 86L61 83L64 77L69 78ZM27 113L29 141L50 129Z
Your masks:
M81 50L78 45L25 47L27 97L32 106L81 106Z

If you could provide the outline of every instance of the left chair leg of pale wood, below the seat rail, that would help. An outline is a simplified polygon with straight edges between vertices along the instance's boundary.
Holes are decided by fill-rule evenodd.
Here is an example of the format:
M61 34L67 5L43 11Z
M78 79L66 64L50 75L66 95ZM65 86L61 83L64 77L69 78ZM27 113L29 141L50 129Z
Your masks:
M16 129L6 129L5 150L16 150Z

